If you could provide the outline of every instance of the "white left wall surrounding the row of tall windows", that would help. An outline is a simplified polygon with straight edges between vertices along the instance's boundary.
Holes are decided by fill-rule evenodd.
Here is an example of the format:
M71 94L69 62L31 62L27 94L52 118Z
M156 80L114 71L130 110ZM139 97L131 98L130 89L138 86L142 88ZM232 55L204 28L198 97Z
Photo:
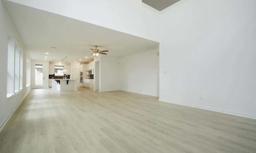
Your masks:
M10 20L2 1L0 1L0 68L1 80L0 81L0 130L11 116L15 108L20 104L24 96L30 91L30 86L26 87L26 49ZM24 51L23 59L23 89L17 92L10 98L6 98L6 81L7 80L7 53L8 53L8 36L14 37Z

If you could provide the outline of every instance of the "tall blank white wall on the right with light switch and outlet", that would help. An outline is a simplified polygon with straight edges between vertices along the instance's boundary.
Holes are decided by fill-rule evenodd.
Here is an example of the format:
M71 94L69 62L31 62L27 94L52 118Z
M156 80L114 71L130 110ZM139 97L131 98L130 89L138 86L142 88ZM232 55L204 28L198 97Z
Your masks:
M255 6L188 0L163 13L160 100L256 118Z

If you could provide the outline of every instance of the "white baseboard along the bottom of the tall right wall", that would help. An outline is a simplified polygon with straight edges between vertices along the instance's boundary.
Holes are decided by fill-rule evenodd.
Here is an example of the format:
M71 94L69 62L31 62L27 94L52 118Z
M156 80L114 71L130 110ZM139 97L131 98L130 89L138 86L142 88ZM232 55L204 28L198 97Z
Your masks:
M186 104L186 103L182 103L182 102L175 102L175 101L170 101L170 100L165 100L165 99L159 99L159 101L161 101L161 102L168 102L168 103L172 103L172 104L183 105L183 106L189 106L189 107L194 107L194 108L199 108L199 109L203 109L203 110L209 110L209 111L213 111L213 112L219 112L219 113L224 113L224 114L241 116L241 117L245 117L245 118L256 119L256 116L250 115L250 114L231 112L231 111L228 111L228 110L220 110L220 109L208 108L208 107L198 106L198 105L190 105L190 104Z

